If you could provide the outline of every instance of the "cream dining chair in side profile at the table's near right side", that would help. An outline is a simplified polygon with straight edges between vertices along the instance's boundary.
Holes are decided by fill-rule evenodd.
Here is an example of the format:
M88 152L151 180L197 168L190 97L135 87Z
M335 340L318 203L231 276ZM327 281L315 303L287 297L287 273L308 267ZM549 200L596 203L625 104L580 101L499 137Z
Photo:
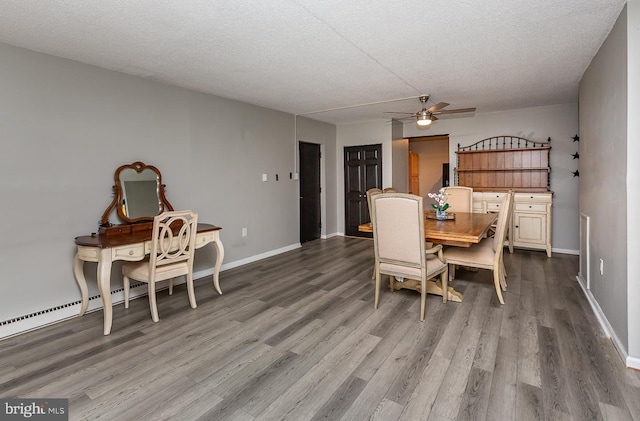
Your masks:
M513 201L513 193L509 192L503 198L500 213L496 223L496 234L492 239L486 239L483 245L473 244L471 247L447 247L444 259L449 265L449 282L455 278L456 265L493 271L493 283L500 304L504 304L502 290L506 291L504 262L502 261L503 244L509 221L509 210ZM490 240L490 241L489 241Z

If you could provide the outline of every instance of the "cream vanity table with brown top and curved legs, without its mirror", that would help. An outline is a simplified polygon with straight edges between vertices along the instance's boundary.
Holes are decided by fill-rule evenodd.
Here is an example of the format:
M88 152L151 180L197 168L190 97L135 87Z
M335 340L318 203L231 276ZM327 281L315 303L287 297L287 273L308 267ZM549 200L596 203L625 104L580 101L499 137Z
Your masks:
M211 224L198 224L196 235L196 249L209 243L216 248L216 263L213 269L213 285L220 290L220 266L224 259L224 247L220 241L220 227ZM85 235L76 237L76 256L73 260L73 274L82 293L82 306L80 316L84 315L89 306L89 290L87 280L84 277L84 262L98 263L98 290L102 297L104 308L104 334L111 333L113 309L111 304L111 265L114 261L140 261L149 254L151 249L151 231L138 231L118 235Z

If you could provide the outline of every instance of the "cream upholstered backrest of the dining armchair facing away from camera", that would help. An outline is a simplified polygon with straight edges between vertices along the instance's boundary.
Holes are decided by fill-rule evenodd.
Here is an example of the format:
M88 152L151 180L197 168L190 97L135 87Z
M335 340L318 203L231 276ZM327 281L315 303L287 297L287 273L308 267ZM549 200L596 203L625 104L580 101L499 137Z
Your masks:
M385 193L372 197L376 261L424 269L424 209L422 197Z

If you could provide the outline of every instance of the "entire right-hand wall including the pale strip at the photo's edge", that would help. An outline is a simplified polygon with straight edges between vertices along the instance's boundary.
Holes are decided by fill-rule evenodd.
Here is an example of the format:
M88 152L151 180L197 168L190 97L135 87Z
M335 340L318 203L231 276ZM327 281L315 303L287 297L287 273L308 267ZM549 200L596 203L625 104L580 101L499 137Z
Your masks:
M580 211L590 291L627 363L640 368L640 4L629 2L580 82ZM599 260L604 261L600 275Z

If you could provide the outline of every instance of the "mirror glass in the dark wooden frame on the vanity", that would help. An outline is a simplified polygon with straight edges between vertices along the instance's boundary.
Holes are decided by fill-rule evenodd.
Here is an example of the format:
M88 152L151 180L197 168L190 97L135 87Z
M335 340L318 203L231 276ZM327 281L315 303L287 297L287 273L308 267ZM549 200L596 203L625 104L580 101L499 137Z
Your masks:
M153 218L162 212L158 174L151 168L138 172L133 168L120 171L122 202L118 211L126 219Z

